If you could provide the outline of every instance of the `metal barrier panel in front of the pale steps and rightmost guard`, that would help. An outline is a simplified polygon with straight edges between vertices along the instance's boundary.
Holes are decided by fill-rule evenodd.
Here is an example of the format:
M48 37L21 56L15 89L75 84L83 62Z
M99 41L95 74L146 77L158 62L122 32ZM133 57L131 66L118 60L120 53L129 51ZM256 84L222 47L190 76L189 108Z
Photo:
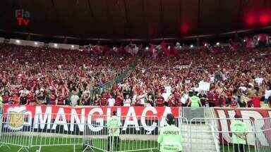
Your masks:
M240 121L246 130L233 132L231 127L234 121ZM226 122L228 125L222 127L221 122ZM256 151L255 145L247 142L255 140L254 123L250 119L193 118L190 125L191 151ZM238 136L243 138L244 143L236 143L234 134L239 134Z

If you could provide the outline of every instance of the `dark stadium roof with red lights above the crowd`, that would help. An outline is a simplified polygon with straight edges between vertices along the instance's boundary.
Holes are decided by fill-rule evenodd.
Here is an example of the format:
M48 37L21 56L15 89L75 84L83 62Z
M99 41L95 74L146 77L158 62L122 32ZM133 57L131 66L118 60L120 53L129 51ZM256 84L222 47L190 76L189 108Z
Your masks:
M181 39L267 27L270 8L270 0L3 0L0 29L83 39ZM18 25L16 10L29 13L28 26Z

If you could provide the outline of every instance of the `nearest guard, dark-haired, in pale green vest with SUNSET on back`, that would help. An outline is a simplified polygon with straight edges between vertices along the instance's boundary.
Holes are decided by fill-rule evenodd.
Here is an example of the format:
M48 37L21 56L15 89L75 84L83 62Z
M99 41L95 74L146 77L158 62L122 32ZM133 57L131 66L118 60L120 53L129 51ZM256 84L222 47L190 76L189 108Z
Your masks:
M181 129L174 125L174 116L171 113L167 114L167 126L160 130L157 142L161 152L183 151Z

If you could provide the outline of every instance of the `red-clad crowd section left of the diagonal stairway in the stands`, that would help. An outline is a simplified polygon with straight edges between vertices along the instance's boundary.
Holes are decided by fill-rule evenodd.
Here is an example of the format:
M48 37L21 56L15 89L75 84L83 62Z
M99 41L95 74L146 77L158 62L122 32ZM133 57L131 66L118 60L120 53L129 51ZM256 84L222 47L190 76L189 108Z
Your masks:
M114 79L133 58L89 56L78 50L0 44L0 91L6 104L70 104L78 94L90 105L90 90Z

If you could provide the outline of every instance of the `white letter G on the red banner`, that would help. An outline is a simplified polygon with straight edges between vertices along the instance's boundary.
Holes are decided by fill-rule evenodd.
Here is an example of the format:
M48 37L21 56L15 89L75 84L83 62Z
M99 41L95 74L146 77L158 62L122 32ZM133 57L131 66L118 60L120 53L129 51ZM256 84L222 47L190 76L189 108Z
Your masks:
M95 118L95 126L92 125L92 115L94 113L99 113L99 115L101 115L100 118L97 118L97 116L93 116ZM104 114L104 112L102 111L102 108L92 108L90 110L90 113L88 113L88 127L93 131L93 132L99 132L100 130L103 129L104 126L104 119L102 118L102 115ZM99 124L99 125L96 125Z

